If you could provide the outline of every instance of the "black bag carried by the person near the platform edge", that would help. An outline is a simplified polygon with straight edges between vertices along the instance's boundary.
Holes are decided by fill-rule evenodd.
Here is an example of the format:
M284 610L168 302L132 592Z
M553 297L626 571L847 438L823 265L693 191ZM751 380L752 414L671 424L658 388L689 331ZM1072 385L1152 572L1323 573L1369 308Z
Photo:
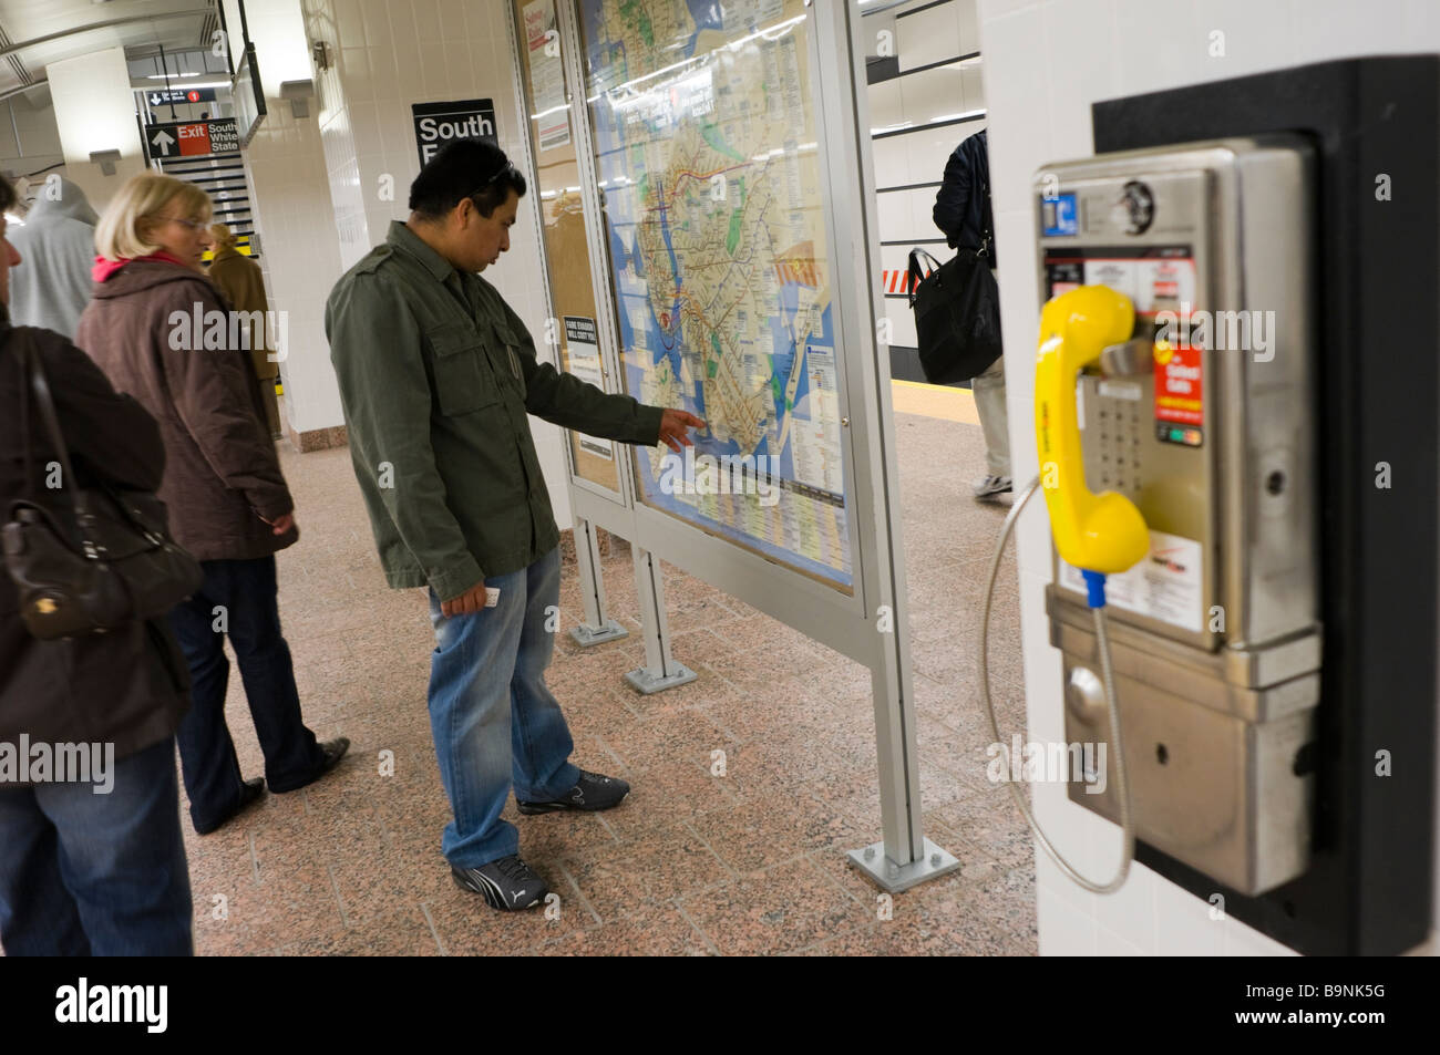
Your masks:
M922 256L932 265L929 275L920 268ZM912 249L906 285L924 380L968 381L989 370L1001 356L999 288L985 248L960 249L945 263Z

